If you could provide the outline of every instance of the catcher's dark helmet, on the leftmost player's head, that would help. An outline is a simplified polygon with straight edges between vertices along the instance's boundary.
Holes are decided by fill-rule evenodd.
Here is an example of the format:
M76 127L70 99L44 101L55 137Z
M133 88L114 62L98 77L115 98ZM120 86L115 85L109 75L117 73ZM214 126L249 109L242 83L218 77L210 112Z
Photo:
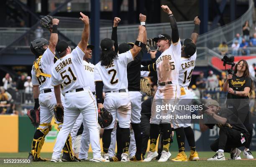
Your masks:
M49 42L48 40L44 39L44 38L40 38L40 39L36 39L36 40L33 40L31 43L30 43L30 50L31 52L36 56L36 57L39 57L41 55L44 54L44 51L46 49L44 49L44 45L49 45Z

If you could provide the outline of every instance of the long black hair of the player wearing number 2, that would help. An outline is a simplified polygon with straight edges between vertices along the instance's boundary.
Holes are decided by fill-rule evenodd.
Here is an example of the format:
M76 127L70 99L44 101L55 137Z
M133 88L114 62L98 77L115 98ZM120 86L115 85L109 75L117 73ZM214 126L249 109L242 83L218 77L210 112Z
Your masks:
M113 50L102 50L101 54L100 54L100 65L101 66L108 66L111 64L111 62L113 60L117 60L118 59L118 54Z

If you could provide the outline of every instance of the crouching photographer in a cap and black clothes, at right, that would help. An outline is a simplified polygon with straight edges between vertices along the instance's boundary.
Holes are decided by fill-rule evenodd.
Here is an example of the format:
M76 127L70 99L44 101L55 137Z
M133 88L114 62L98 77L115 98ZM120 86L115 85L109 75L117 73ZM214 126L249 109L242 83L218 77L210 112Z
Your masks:
M204 120L200 119L200 130L204 132L214 126L220 128L219 138L210 145L212 151L217 153L207 161L225 160L224 152L230 152L232 160L241 160L238 147L246 145L249 136L246 127L232 111L221 108L217 101L209 99L204 106L206 110Z

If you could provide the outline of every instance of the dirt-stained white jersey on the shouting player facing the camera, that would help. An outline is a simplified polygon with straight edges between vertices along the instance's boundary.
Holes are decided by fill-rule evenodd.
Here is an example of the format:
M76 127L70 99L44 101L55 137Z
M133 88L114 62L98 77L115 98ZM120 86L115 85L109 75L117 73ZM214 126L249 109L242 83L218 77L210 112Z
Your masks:
M158 82L172 81L178 84L181 47L180 40L176 45L172 43L156 60Z

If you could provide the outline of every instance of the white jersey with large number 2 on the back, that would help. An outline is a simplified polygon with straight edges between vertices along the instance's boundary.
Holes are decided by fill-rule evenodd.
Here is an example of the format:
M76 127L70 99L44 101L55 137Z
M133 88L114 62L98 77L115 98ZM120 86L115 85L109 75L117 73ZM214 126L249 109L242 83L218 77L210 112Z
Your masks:
M118 54L118 59L113 60L109 66L95 65L95 81L102 81L103 92L128 89L127 64L133 61L131 50Z

